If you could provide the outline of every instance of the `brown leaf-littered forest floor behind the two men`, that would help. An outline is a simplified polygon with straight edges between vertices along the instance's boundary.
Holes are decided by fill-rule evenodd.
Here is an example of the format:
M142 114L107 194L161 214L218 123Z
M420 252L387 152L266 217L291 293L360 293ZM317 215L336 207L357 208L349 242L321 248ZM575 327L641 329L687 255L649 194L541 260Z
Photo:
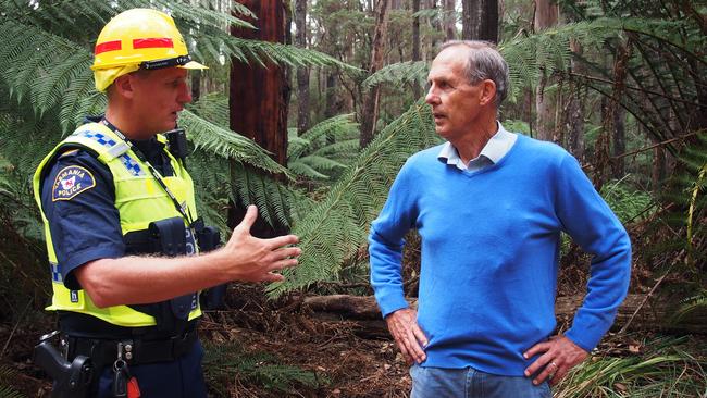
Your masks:
M582 278L560 277L560 295ZM573 281L568 283L567 278ZM634 284L633 289L645 290ZM569 320L559 320L560 328ZM16 324L0 323L0 396L10 386L26 397L49 397L47 376L30 362L38 336L52 329L53 316L27 311ZM384 329L346 320L322 320L297 300L265 299L262 286L234 285L227 310L204 315L200 335L204 373L213 397L407 397L408 366ZM603 355L637 355L641 337L605 338ZM706 336L691 337L695 347ZM636 348L638 347L638 348ZM702 351L697 349L696 351Z

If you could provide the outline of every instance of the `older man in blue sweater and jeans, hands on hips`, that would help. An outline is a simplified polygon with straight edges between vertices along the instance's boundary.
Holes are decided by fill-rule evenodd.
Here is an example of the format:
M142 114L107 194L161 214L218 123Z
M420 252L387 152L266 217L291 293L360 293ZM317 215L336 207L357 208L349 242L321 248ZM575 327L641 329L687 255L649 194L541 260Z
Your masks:
M412 156L371 226L371 283L412 397L549 397L625 297L631 245L562 148L509 133L508 66L493 45L445 43L425 98L446 144ZM404 298L404 236L422 238L418 310ZM560 233L594 256L572 327L553 335Z

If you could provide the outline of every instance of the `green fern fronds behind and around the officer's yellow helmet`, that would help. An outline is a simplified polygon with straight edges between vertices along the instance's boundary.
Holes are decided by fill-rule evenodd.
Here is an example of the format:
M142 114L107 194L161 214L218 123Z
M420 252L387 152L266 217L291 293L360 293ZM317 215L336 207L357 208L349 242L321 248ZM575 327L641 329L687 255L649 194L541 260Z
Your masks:
M349 67L328 55L295 47L234 38L228 26L244 23L237 17L215 10L214 2L204 7L160 1L126 1L107 7L104 2L82 1L41 3L34 10L27 3L0 1L0 62L9 67L0 73L0 84L5 84L11 96L28 102L38 115L58 107L64 133L71 130L85 114L102 109L104 99L94 96L91 43L102 24L120 11L134 7L163 9L174 14L183 28L185 39L193 43L196 53L203 52L213 62L239 51L247 62L269 60L288 65ZM94 3L101 3L95 5ZM233 5L241 14L249 11ZM85 10L91 10L85 11ZM70 24L59 24L72 21ZM80 30L76 32L78 27ZM90 33L90 36L87 35ZM213 41L222 45L213 46Z

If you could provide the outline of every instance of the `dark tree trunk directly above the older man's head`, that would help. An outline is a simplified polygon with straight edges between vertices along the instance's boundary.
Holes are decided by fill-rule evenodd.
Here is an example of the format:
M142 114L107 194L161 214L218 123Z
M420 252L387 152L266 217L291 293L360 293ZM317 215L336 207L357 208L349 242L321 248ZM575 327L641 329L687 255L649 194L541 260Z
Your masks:
M461 38L498 42L498 0L461 1Z

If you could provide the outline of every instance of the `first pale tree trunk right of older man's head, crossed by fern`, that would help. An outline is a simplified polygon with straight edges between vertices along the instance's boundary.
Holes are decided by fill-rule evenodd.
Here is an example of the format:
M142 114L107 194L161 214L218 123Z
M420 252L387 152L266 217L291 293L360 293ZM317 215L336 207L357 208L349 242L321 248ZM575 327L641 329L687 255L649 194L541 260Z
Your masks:
M543 30L557 24L557 4L551 0L535 0L535 17L533 26L535 32ZM549 85L550 76L544 75L541 84L535 90L535 127L537 138L546 141L555 141L553 136L553 98L545 92L545 87Z

